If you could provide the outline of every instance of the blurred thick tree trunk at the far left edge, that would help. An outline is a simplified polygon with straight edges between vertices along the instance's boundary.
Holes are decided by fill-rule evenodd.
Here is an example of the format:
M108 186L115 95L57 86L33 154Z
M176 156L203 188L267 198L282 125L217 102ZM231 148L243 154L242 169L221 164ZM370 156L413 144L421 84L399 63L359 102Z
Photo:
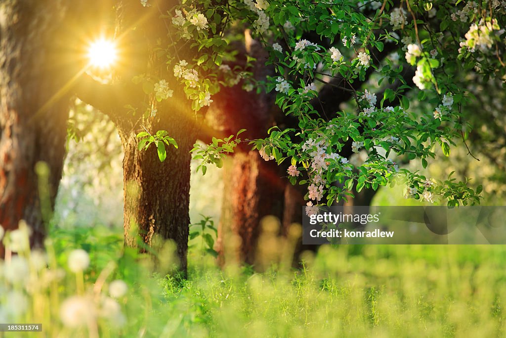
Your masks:
M65 154L68 95L62 87L69 77L61 48L68 40L57 30L64 5L11 0L0 6L0 224L12 230L24 219L36 247L43 245L43 211L51 215ZM38 166L39 179L41 161L47 166Z

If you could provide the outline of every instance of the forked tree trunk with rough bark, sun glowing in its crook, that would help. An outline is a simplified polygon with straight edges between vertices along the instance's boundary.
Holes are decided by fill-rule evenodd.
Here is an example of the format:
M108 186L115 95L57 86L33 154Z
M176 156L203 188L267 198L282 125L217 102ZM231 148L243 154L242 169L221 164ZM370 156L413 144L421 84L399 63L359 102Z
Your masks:
M158 240L172 240L177 247L179 268L187 269L190 192L190 149L196 140L197 116L190 109L181 83L166 68L166 59L155 52L157 41L170 45L167 27L160 14L177 4L176 1L153 1L142 7L138 1L115 3L116 36L122 58L129 67L117 71L114 83L101 85L82 77L78 96L107 114L118 129L124 150L124 243L138 247L141 252L160 249ZM112 6L111 6L112 7ZM191 60L194 52L188 46L178 49L181 59ZM174 95L162 102L154 94L144 94L142 87L133 85L132 78L146 74L153 79L168 81ZM125 105L138 109L131 114ZM156 115L145 114L146 107ZM168 132L178 143L178 149L166 145L166 159L160 162L156 144L138 150L141 131L155 134Z

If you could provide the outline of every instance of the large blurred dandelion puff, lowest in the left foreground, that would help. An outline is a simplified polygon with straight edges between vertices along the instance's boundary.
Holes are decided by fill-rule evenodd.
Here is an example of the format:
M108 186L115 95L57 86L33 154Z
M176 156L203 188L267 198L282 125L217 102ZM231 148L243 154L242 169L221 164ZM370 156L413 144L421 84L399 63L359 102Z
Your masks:
M79 327L93 323L97 318L97 309L91 299L72 296L60 306L60 319L67 327Z

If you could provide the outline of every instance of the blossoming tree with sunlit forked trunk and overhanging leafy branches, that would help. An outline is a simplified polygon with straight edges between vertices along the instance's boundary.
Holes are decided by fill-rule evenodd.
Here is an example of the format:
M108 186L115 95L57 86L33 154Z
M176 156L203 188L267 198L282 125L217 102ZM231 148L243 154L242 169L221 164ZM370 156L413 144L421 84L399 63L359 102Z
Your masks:
M110 71L91 69L73 89L118 128L125 153L126 244L147 250L157 236L173 239L186 269L190 150L202 160L202 173L212 163L221 167L238 145L289 165L290 182L306 189L307 213L346 200L354 189L376 190L398 180L407 184L407 197L438 197L452 206L479 203L480 191L465 182L436 181L400 169L396 161L418 159L426 167L435 146L448 156L455 139L466 139L470 126L459 111L470 96L453 76L478 67L485 76L503 79L503 2L101 4L114 9L105 35L114 35L117 63ZM251 29L275 73L259 79L249 62L227 64L234 61L229 44L237 27ZM98 50L113 49L111 44L104 39ZM390 48L391 58L379 56ZM415 67L414 91L398 57ZM368 78L377 84L367 84ZM283 123L266 130L267 137L243 138L244 125L192 149L197 135L213 136L204 123L207 107L221 88L237 84L276 94ZM320 104L319 93L329 88L347 93L348 108ZM432 108L410 111L410 100L427 100ZM346 147L365 158L351 161Z

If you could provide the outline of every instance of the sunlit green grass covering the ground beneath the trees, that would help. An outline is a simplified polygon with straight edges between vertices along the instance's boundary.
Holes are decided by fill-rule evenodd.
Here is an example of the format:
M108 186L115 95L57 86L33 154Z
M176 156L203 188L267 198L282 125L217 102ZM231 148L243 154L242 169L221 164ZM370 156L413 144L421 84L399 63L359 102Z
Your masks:
M83 275L67 268L74 248L90 253ZM11 283L0 267L0 309L12 313L6 295L18 290L27 309L8 319L42 322L46 336L63 337L504 336L502 246L327 245L304 254L301 269L264 273L235 265L220 270L195 250L187 280L165 275L175 262L171 248L155 261L123 249L121 235L104 228L54 230L49 268L32 269L31 282ZM64 276L46 285L48 271L57 269ZM120 313L111 316L104 299L111 299L115 279L129 291L115 300ZM75 294L91 299L98 315L73 328L62 323L59 307Z

